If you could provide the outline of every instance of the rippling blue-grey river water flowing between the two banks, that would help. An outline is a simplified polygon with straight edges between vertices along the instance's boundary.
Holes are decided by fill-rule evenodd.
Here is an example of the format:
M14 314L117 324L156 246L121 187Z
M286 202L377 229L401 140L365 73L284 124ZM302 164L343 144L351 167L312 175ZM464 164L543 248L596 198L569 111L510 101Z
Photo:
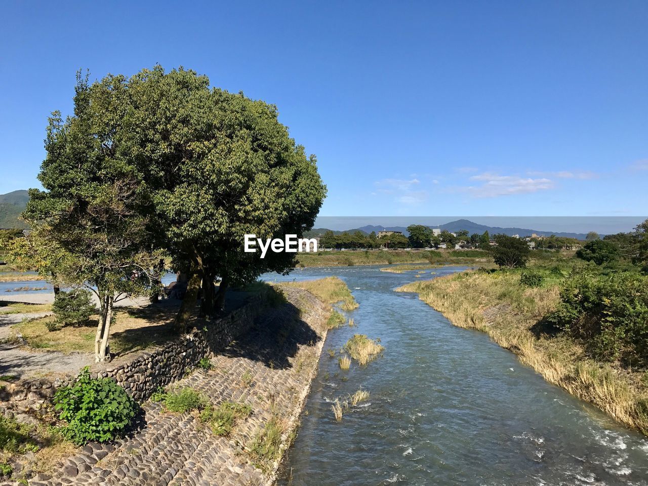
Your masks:
M338 275L360 303L347 313L356 327L329 332L280 485L648 485L642 435L548 384L486 334L393 292L415 272L378 268L264 276ZM326 350L355 333L380 338L384 357L341 371ZM359 388L371 392L368 402L336 422L332 400Z

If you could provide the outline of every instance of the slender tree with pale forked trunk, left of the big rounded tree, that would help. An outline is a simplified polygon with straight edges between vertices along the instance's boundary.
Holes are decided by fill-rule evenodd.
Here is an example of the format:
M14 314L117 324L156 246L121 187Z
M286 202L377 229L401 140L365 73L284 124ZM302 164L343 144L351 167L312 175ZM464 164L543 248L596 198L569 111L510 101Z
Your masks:
M128 150L108 125L110 115L127 104L104 94L78 76L74 114L62 119L52 113L38 176L43 191L30 190L25 211L41 240L64 255L64 281L97 295L97 361L108 352L115 299L144 292L156 261L142 174L124 157Z

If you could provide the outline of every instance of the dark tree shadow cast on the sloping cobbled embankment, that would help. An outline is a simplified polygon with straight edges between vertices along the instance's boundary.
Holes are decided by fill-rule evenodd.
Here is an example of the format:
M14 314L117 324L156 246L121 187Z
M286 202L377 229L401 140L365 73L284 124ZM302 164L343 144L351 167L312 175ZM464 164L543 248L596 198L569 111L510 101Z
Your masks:
M253 324L252 329L225 349L214 349L214 354L231 358L248 358L275 369L292 367L294 358L303 345L314 346L321 338L301 318L301 310L292 303L269 307Z

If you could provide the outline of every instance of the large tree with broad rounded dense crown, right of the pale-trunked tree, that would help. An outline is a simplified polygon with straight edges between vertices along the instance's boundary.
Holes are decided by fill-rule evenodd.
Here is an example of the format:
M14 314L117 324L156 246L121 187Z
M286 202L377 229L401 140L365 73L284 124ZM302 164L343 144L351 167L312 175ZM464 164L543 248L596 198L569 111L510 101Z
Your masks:
M159 66L133 76L128 91L133 161L149 171L161 240L189 277L176 319L184 330L201 286L202 312L212 316L232 284L294 268L295 253L244 253L244 235L301 237L326 189L316 158L290 138L273 105Z

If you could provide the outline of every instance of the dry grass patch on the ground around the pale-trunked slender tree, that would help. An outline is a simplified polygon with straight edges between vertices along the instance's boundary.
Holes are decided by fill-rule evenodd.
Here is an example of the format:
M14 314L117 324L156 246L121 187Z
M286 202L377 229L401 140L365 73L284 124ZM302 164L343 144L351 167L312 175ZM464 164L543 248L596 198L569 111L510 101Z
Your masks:
M174 314L174 308L163 307L117 309L115 323L110 328L110 352L122 356L176 339L178 334L172 323ZM23 321L13 325L11 332L22 334L34 348L66 354L94 352L96 317L84 327L65 326L53 331L47 330L45 323L55 319L54 316L49 316Z

